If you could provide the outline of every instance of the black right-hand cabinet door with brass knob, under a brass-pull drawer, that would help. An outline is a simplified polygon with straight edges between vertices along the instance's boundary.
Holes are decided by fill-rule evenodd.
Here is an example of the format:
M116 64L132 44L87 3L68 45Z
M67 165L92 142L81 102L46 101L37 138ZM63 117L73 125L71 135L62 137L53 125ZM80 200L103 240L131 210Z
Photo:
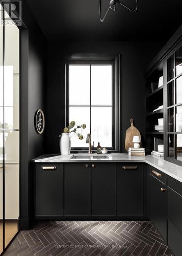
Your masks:
M166 240L166 192L165 184L149 174L149 215L150 220Z

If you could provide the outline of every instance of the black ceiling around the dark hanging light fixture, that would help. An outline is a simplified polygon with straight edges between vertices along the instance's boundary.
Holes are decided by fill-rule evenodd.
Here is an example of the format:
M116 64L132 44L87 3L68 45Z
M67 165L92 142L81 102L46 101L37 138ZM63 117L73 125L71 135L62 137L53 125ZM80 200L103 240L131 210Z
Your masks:
M181 25L181 0L139 0L138 11L120 6L100 23L98 0L27 0L47 40L165 41ZM106 11L110 0L102 0ZM135 6L135 0L123 0ZM23 11L23 10L22 10Z

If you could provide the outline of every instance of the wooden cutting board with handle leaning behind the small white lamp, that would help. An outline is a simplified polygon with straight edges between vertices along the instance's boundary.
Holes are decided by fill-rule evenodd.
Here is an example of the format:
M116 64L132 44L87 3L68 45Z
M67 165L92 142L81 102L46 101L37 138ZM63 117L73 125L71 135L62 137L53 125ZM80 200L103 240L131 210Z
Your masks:
M140 137L141 140L141 135L139 130L134 126L134 119L131 118L130 119L131 122L131 127L129 127L126 131L126 137L125 137L125 150L128 152L128 148L129 147L133 147L134 143L133 141L133 137L134 135L138 135Z

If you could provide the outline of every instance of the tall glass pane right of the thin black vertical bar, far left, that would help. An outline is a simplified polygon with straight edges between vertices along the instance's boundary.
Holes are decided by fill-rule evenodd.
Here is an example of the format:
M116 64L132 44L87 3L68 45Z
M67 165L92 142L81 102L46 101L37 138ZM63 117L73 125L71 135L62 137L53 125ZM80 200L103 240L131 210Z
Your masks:
M4 26L4 162L5 247L18 231L19 220L19 29Z

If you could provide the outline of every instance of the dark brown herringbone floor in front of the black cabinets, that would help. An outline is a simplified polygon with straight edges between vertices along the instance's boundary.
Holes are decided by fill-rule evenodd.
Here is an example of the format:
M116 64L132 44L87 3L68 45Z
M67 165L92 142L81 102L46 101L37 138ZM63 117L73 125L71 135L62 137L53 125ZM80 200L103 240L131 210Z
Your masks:
M21 231L4 255L171 256L158 230L142 221L50 221Z

